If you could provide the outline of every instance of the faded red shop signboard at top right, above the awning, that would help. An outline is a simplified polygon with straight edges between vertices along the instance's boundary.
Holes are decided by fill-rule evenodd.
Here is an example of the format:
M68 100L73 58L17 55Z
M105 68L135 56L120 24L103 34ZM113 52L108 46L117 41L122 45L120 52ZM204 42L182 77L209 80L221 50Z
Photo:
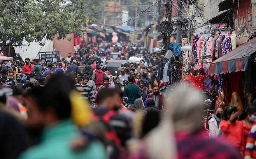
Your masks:
M234 7L234 28L252 27L251 0L240 0Z

